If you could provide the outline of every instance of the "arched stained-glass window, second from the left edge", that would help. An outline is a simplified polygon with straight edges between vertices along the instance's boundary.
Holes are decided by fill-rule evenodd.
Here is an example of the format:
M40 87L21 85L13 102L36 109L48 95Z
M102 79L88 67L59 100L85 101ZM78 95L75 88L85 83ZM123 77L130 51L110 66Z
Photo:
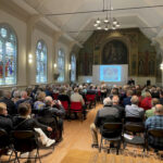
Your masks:
M43 40L36 48L36 83L47 83L47 46Z

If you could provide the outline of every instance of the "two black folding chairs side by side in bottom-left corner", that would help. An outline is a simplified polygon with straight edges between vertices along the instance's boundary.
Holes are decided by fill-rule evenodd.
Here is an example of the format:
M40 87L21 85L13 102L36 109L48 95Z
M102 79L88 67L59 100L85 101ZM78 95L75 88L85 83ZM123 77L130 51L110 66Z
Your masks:
M35 159L35 162L38 160L41 163L38 138L33 130L14 130L9 135L4 129L0 129L0 149L10 149L11 154L8 162L13 161L11 158L14 156L14 161L18 163L22 153L32 152L36 149L36 154L33 158L23 159Z

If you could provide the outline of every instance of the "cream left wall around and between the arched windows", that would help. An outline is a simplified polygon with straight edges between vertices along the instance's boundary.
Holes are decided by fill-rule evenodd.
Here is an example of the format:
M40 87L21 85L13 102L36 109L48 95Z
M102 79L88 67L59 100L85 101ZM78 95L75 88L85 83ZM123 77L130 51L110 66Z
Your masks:
M27 25L22 20L18 20L14 15L0 10L0 23L9 24L17 36L17 86L27 86L26 79L26 55L27 55ZM53 83L54 67L53 63L57 62L58 51L62 48L65 52L65 83L70 82L70 49L62 40L53 45L53 38L47 35L37 27L33 30L32 36L32 54L33 63L29 64L29 85L36 84L36 45L39 39L42 39L48 48L48 80L47 84ZM54 60L55 59L55 60Z

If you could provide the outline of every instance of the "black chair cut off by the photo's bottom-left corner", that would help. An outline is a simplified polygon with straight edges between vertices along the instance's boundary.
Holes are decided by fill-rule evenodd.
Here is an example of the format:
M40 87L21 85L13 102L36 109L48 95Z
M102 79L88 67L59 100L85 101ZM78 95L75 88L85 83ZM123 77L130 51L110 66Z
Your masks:
M9 149L11 149L10 136L4 129L0 128L0 158L2 154L7 153ZM11 155L9 158L9 162L11 161Z

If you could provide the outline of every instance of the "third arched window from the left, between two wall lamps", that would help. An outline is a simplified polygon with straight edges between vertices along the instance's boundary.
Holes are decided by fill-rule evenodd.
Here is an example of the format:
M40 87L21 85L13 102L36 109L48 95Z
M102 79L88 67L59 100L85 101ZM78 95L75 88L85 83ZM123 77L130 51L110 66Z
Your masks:
M58 71L59 71L59 78L58 82L64 82L64 73L65 73L65 54L62 49L59 50L58 54Z

